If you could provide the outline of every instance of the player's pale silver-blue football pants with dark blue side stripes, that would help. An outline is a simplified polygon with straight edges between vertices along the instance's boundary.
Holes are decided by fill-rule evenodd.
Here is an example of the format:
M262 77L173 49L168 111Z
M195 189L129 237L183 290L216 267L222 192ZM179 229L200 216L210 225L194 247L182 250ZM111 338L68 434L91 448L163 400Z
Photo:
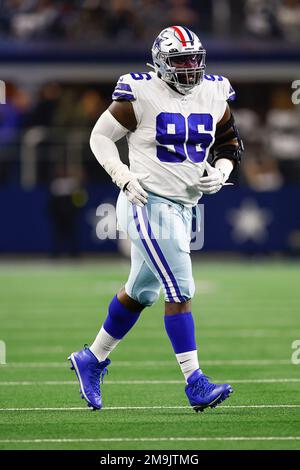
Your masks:
M131 270L126 293L152 305L162 287L167 302L186 302L195 292L190 258L193 211L149 193L138 207L121 191L117 201L119 228L131 240Z

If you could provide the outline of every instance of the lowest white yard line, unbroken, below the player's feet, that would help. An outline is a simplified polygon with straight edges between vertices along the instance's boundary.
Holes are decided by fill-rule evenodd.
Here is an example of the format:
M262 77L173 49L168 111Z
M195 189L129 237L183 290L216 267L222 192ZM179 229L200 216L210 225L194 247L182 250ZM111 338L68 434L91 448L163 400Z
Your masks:
M201 442L201 441L299 441L300 436L228 436L228 437L99 437L63 439L0 439L1 444L39 444L72 442Z

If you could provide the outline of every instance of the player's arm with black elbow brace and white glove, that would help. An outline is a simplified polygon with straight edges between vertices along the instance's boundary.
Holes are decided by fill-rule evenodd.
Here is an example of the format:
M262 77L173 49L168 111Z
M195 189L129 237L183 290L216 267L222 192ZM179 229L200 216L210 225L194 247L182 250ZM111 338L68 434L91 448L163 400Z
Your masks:
M214 194L226 184L230 173L240 162L243 149L233 114L227 104L216 128L212 165L205 162L207 176L200 178L200 190L203 193Z

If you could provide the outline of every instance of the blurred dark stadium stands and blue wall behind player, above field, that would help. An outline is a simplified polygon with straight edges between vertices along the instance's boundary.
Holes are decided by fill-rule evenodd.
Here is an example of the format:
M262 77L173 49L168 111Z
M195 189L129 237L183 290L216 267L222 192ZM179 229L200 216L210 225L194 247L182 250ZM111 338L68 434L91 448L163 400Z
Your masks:
M207 73L236 89L246 148L235 187L203 199L205 251L299 254L296 0L2 0L2 254L118 249L95 236L96 208L117 192L91 154L90 131L118 76L147 70L153 38L177 23L199 33Z

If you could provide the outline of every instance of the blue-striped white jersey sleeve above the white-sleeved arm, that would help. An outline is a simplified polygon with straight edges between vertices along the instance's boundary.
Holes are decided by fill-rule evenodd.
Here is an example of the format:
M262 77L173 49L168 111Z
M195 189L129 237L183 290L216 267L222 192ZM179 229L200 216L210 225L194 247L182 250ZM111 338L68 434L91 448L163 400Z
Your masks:
M131 74L122 75L115 86L112 94L113 101L130 101L134 114L139 124L142 116L142 107L139 99L139 91L136 81Z

